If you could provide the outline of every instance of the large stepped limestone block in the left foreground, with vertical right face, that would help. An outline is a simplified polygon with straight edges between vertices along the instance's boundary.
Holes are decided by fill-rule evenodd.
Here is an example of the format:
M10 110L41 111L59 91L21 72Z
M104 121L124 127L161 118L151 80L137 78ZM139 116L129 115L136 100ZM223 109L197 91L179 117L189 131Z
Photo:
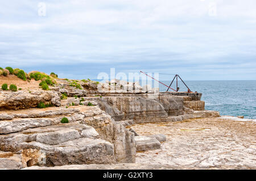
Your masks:
M134 134L96 106L1 111L0 117L2 169L135 161ZM60 123L63 117L69 123Z

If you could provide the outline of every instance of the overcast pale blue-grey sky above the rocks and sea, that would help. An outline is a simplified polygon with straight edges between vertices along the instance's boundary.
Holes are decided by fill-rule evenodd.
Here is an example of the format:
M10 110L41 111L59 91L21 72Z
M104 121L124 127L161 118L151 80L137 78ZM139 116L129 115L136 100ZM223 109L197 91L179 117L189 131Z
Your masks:
M77 79L115 68L255 80L256 1L1 1L0 66Z

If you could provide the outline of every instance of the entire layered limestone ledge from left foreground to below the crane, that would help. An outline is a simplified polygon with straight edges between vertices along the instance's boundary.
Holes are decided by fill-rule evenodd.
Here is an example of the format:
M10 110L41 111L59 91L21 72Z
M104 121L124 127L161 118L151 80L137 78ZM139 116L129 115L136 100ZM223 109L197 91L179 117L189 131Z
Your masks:
M159 149L166 137L138 136L127 126L220 116L204 110L200 93L155 93L127 82L106 83L102 92L96 82L72 81L58 79L51 91L0 91L1 169L134 163L136 151ZM35 108L40 102L55 107Z

